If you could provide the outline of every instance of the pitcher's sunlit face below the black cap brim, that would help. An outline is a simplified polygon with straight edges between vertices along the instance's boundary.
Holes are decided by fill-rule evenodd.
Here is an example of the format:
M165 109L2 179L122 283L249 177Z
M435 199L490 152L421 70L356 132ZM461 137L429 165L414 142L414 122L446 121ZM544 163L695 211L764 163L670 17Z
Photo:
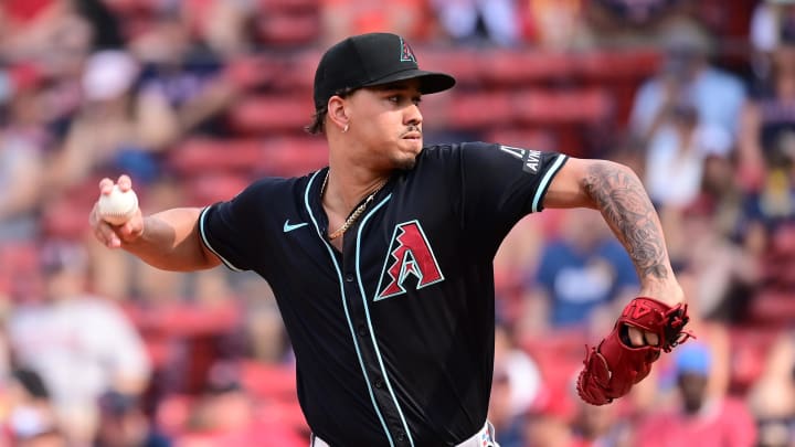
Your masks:
M356 91L346 108L356 137L352 157L374 169L411 169L422 151L420 83L416 79Z

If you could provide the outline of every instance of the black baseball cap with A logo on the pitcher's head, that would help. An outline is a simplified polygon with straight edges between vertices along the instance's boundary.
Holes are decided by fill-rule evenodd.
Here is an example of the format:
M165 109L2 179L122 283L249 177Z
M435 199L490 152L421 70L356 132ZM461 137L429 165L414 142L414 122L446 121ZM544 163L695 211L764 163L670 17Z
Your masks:
M400 35L354 35L331 46L320 58L315 72L315 109L326 107L331 96L348 89L405 79L418 79L424 95L455 85L448 74L420 70L414 52Z

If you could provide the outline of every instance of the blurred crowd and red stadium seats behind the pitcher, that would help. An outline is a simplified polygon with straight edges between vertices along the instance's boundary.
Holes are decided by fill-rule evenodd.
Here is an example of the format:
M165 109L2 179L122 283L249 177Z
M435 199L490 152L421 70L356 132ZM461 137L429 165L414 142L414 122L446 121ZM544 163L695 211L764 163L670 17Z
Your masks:
M145 212L325 164L322 51L404 35L458 78L427 142L633 167L698 340L630 395L572 393L637 290L592 211L522 220L495 259L502 447L795 446L795 1L0 1L0 446L305 446L267 284L169 274L88 234L98 180Z

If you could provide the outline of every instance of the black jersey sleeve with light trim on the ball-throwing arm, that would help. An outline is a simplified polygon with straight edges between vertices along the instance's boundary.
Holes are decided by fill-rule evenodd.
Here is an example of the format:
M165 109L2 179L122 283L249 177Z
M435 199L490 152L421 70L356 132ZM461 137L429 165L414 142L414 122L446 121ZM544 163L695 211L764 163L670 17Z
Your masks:
M234 199L206 206L199 217L202 243L232 270L253 269L254 247L262 246L265 224L261 221L264 185L255 183ZM257 231L257 228L259 228Z

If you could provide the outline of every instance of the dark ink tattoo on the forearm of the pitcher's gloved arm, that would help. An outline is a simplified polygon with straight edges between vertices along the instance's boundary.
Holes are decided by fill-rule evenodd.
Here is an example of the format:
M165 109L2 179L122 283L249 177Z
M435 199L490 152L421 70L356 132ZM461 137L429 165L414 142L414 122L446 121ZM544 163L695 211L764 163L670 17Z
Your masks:
M638 276L666 279L668 254L662 230L637 175L615 163L595 162L584 181L585 191L626 247Z

